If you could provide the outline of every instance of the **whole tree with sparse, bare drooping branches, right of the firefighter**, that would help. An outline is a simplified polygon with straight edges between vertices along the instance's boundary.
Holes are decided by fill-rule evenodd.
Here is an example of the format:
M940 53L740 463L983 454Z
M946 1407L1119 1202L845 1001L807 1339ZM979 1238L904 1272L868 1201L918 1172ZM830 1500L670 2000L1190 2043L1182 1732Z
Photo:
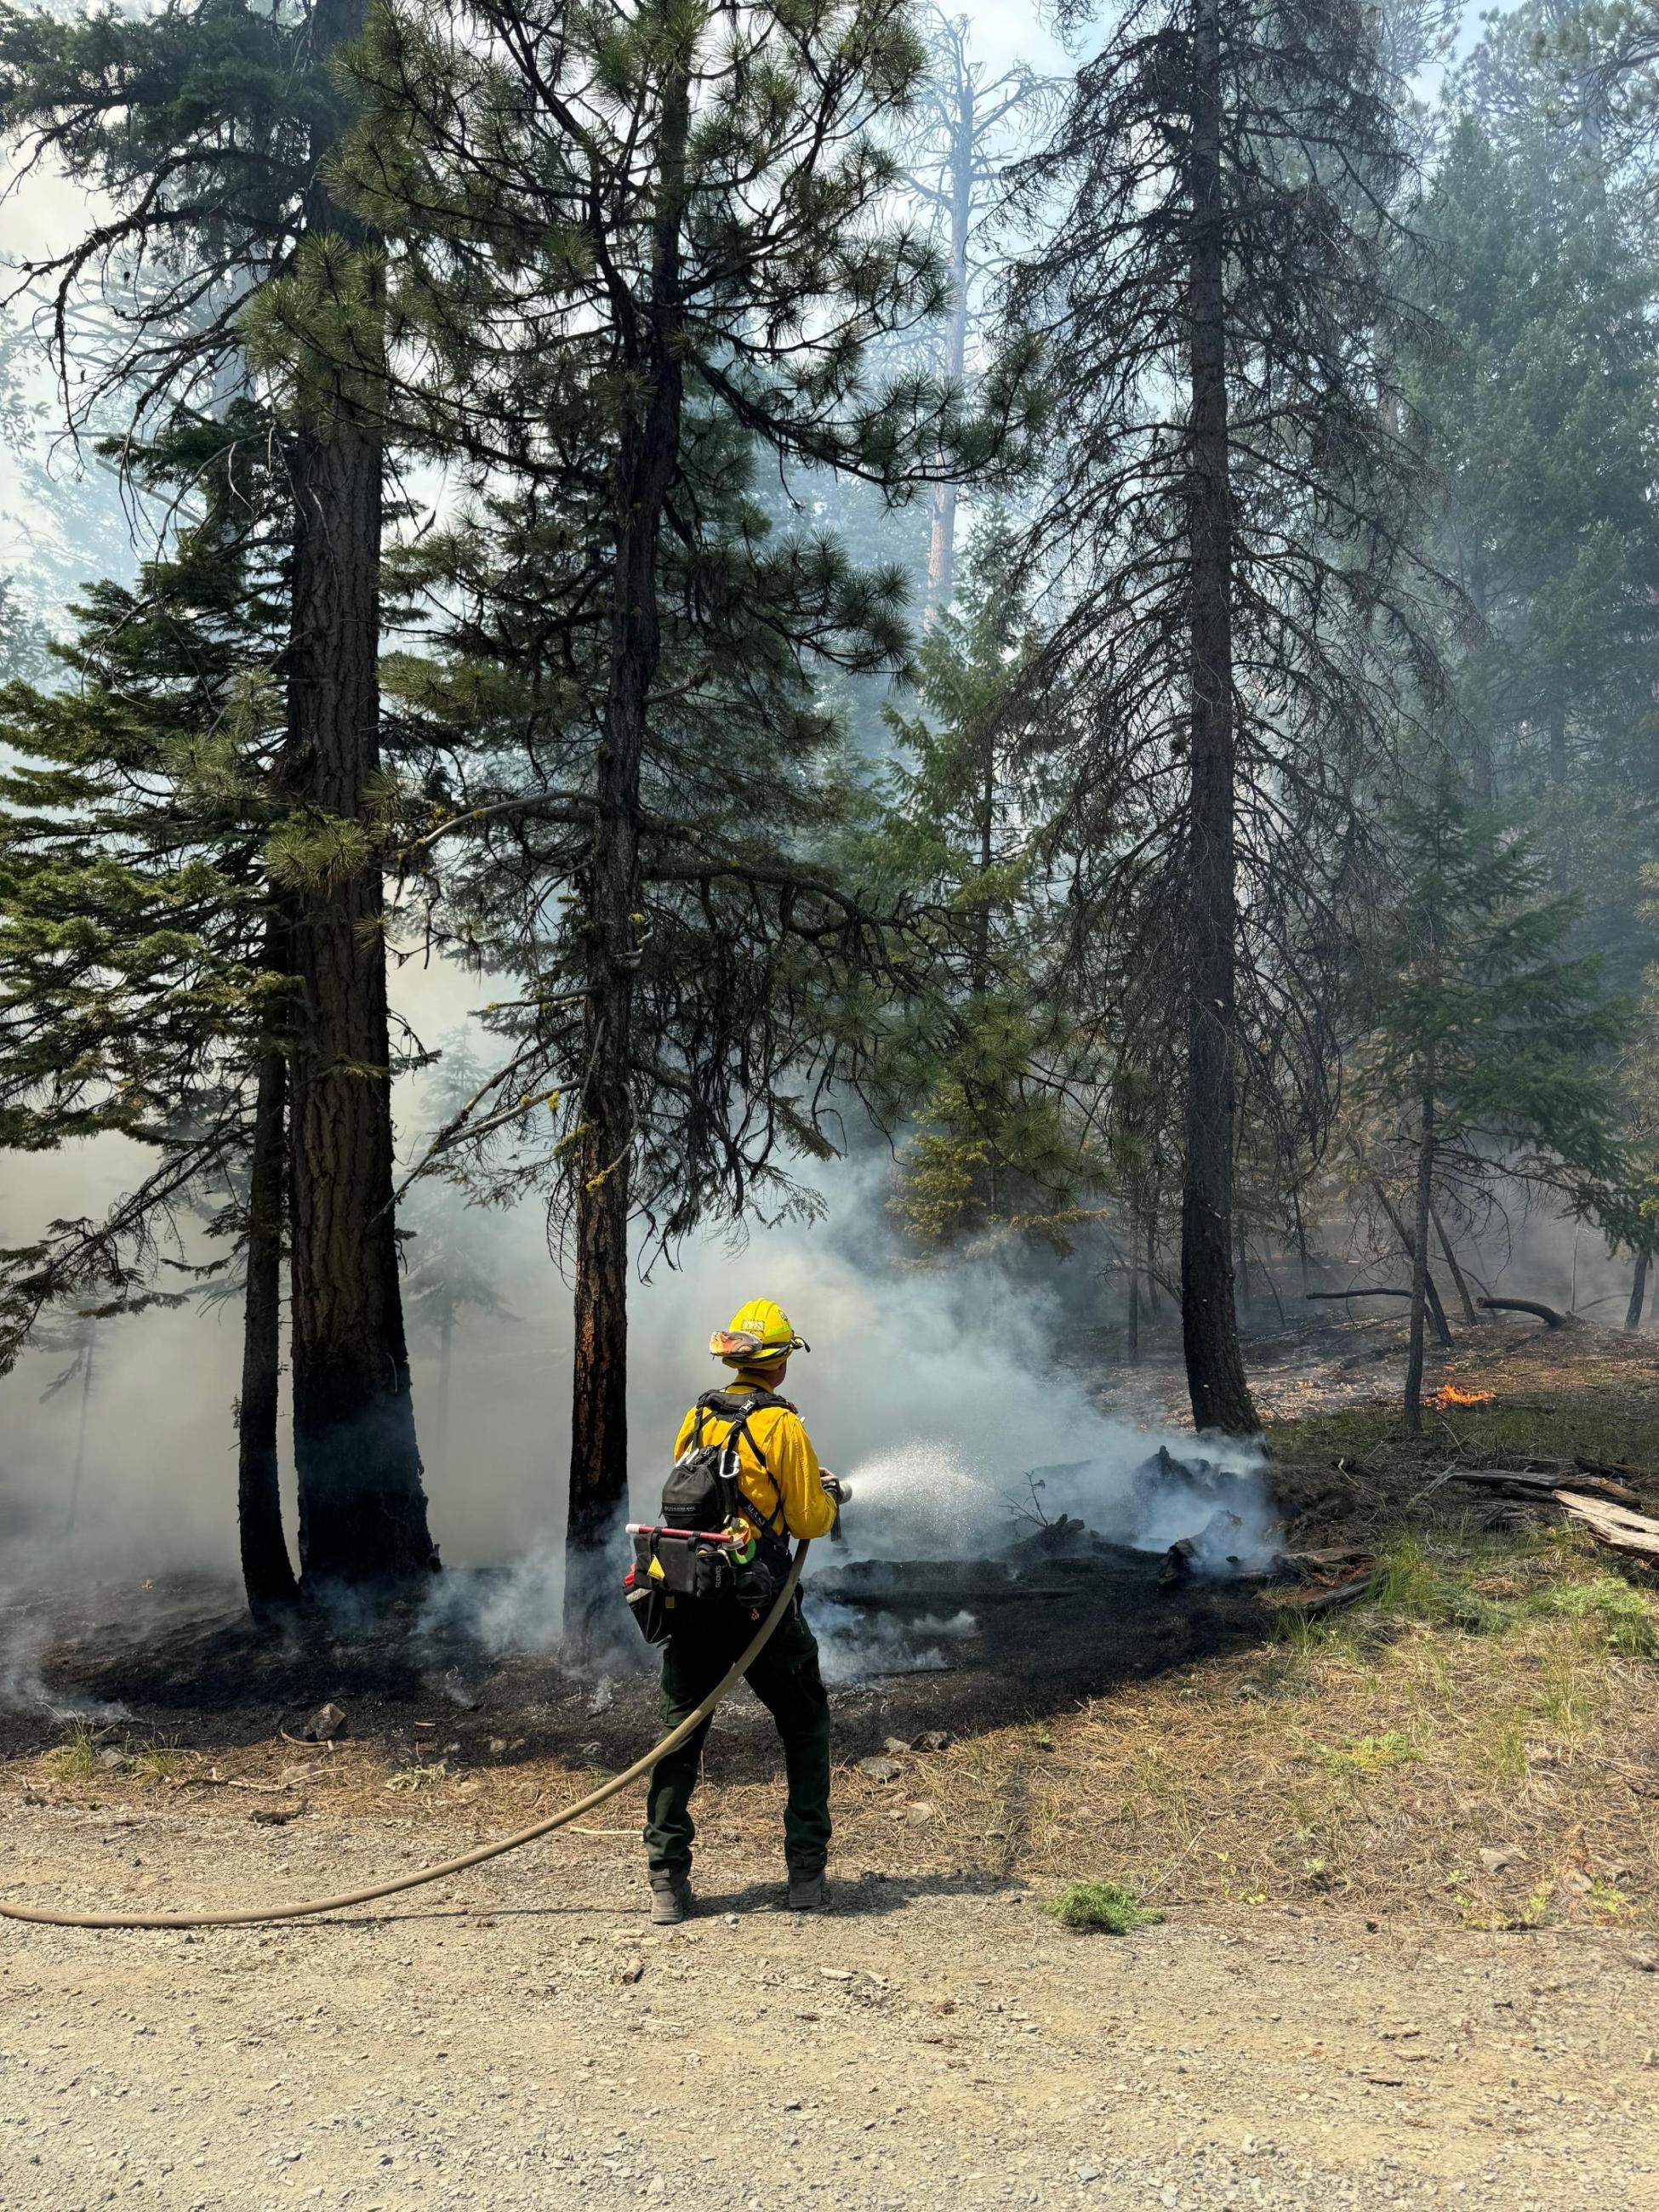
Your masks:
M1181 1102L1201 1429L1256 1427L1239 1126L1323 1126L1367 776L1422 664L1383 343L1402 168L1356 0L1137 0L1018 170L1048 232L1013 307L1062 425L1033 560L1064 606L1042 675L1077 973Z

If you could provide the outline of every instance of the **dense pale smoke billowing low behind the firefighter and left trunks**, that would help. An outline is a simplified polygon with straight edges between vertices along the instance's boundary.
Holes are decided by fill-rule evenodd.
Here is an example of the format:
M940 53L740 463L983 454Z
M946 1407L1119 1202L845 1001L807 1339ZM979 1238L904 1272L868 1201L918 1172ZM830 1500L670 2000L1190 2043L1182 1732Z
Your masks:
M405 973L398 989L418 1033L445 1037L480 984L440 969ZM489 1040L471 1042L493 1051ZM422 1082L396 1088L405 1157L434 1126ZM31 1159L27 1186L13 1177L0 1197L0 1228L15 1243L51 1214L95 1214L144 1166L148 1157L122 1139ZM1110 1420L1091 1400L1086 1374L1055 1369L1093 1321L1088 1261L918 1270L887 1228L889 1172L874 1152L812 1166L818 1221L754 1230L745 1243L710 1234L635 1283L633 1517L655 1511L686 1407L721 1380L706 1349L710 1329L765 1294L814 1345L792 1363L785 1389L823 1462L854 1484L852 1557L995 1553L1020 1533L1009 1502L1029 1502L1033 1469L1051 1469L1040 1478L1051 1515L1077 1513L1124 1542L1194 1535L1212 1500L1137 1491L1137 1469L1159 1442L1190 1455L1192 1440ZM429 1628L440 1641L471 1635L487 1652L549 1650L564 1599L568 1290L549 1263L535 1201L489 1210L440 1183L420 1188L420 1208L409 1208L409 1281L422 1267L427 1281L453 1267L493 1294L489 1307L460 1305L442 1334L409 1298L431 1528L447 1568L467 1571L434 1586ZM179 1252L201 1256L188 1223ZM77 1394L40 1402L62 1354L31 1354L0 1383L0 1573L11 1586L11 1604L0 1588L0 1610L40 1582L153 1577L159 1586L179 1571L234 1575L239 1356L234 1298L97 1323L73 1528ZM1225 1464L1248 1471L1239 1453ZM283 1480L292 1528L292 1469ZM1265 1526L1265 1498L1256 1522ZM615 1610L622 1648L644 1657ZM929 1632L925 1641L951 1639Z

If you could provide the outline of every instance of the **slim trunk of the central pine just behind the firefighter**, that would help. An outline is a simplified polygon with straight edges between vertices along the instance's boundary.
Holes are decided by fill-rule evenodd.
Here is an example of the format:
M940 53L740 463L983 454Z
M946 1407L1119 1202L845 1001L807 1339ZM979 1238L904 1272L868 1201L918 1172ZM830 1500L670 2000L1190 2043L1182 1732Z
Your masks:
M639 960L639 781L661 664L657 549L679 467L679 226L690 84L664 86L661 184L650 305L641 323L644 405L622 429L604 743L586 869L582 1137L575 1148L575 1369L564 1632L595 1637L608 1601L602 1562L628 1498L628 1214L633 1148L633 980Z

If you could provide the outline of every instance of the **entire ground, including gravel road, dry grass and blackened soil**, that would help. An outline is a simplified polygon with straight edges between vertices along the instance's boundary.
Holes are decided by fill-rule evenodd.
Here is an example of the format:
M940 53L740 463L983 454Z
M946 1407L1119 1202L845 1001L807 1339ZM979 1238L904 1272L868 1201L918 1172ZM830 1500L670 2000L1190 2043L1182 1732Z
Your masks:
M741 1694L703 1909L659 1940L630 1796L347 1922L0 1924L0 2208L1659 2208L1655 1586L1553 1509L1431 1489L1515 1453L1659 1469L1659 1356L1482 1323L1431 1378L1478 1402L1409 1440L1398 1336L1252 1347L1290 1542L1376 1557L1371 1597L1307 1624L1287 1588L1115 1564L982 1604L947 1670L834 1692L818 1920L776 1909ZM1148 1365L1119 1405L1166 1389ZM124 1593L111 1637L113 1601L13 1624L13 1703L111 1710L11 1714L7 1896L367 1882L568 1801L655 1719L639 1674L396 1635L272 1657L206 1588ZM283 1741L330 1694L347 1734ZM1042 1907L1079 1878L1166 1918L1073 1936Z

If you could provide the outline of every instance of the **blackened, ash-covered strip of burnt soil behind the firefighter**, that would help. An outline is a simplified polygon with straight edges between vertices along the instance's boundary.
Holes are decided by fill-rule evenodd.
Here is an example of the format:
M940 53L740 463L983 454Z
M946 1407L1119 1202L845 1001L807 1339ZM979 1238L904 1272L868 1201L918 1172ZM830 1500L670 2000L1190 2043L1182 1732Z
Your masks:
M1040 1721L1261 1637L1254 1584L1166 1586L1159 1571L1150 1553L1022 1571L925 1562L880 1571L902 1597L889 1608L847 1604L845 1571L825 1562L807 1577L807 1617L825 1644L838 1756L880 1752L891 1734L969 1736ZM0 1708L0 1756L13 1759L62 1741L75 1712L91 1714L111 1772L155 1743L288 1756L296 1745L283 1736L299 1739L323 1703L343 1710L341 1734L354 1747L396 1765L447 1754L451 1772L619 1767L657 1728L655 1655L637 1639L573 1672L551 1655L491 1657L409 1604L374 1626L307 1617L263 1632L230 1584L106 1586L20 1604L9 1637L13 1650L29 1648L35 1672L33 1705ZM847 1670L854 1686L838 1679ZM770 1723L748 1697L732 1710L754 1723L732 1732L745 1747L752 1739L752 1763L765 1772ZM745 1756L734 1778L750 1778L748 1765Z

